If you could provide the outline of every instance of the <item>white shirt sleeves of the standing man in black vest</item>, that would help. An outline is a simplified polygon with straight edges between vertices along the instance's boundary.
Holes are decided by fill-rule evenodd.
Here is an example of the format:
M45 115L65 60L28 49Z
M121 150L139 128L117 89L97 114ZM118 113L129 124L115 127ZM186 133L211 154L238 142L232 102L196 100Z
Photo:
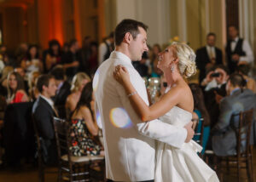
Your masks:
M231 42L231 51L234 51L236 48L236 43L238 42L239 37L236 37L234 41ZM253 51L252 48L250 47L249 43L247 40L243 39L242 41L242 51L246 53L244 56L240 56L239 61L246 61L247 63L252 63L253 64Z

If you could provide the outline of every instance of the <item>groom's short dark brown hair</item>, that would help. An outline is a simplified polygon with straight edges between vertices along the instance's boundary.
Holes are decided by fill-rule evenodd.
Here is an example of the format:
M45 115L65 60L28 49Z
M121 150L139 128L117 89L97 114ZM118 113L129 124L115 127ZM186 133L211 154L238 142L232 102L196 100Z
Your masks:
M125 33L130 32L132 37L136 39L137 34L140 33L138 27L142 27L145 31L148 30L148 26L143 24L143 22L131 19L122 20L114 30L114 43L119 46L125 37Z

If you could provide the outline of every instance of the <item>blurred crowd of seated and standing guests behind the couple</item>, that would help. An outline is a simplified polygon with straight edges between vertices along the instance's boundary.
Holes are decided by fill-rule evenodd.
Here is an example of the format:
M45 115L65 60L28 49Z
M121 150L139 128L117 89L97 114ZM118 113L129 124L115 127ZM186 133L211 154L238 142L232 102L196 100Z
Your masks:
M222 53L215 46L217 36L212 32L207 34L206 45L196 50L198 73L188 80L195 100L194 118L204 119L204 150L212 148L212 137L224 134L220 131L226 132L234 120L232 115L241 111L241 108L236 110L232 107L234 103L240 103L242 109L254 107L256 103L252 48L247 40L239 37L235 26L229 27L229 37L225 53ZM165 93L166 88L165 77L157 67L158 54L165 49L157 43L148 48L149 51L143 54L142 60L133 61L132 64L141 77L145 78L148 88L152 84L157 85L149 90L154 97L151 99L157 100ZM6 115L12 109L7 108L18 103L32 103L31 114L34 115L49 150L45 154L46 158L55 158L54 154L49 154L55 148L53 116L70 121L73 155L103 155L102 145L96 139L100 135L100 128L96 124L91 81L97 67L108 59L113 49L113 33L102 43L96 43L91 37L84 37L82 47L79 47L77 40L63 45L57 40L50 40L49 48L45 50L36 44L20 43L15 53L9 53L8 48L1 45L0 160L3 158L3 148L6 148L5 140L10 139L4 137L8 136L9 131L13 131L13 128L8 128L9 115ZM223 54L226 55L225 58ZM153 91L157 91L157 94L153 95ZM226 113L230 114L229 117ZM219 147L214 147L213 150L222 155L230 152L218 151ZM5 150L7 152L9 151Z

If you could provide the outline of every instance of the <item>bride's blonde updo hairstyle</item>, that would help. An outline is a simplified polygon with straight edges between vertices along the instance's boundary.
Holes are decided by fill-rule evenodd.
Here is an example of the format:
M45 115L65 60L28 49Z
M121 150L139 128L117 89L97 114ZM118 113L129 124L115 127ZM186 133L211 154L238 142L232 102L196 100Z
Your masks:
M195 75L195 52L186 43L172 43L176 48L176 56L178 58L178 69L183 77L191 77Z

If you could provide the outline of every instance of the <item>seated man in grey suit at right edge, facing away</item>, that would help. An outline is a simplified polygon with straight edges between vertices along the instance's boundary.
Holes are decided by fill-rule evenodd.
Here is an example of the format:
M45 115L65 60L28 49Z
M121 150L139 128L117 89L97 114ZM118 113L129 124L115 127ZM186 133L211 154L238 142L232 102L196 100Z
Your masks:
M220 102L220 116L212 128L212 150L217 156L236 154L236 133L239 113L256 106L256 96L247 88L240 74L232 74L227 82L228 96Z

